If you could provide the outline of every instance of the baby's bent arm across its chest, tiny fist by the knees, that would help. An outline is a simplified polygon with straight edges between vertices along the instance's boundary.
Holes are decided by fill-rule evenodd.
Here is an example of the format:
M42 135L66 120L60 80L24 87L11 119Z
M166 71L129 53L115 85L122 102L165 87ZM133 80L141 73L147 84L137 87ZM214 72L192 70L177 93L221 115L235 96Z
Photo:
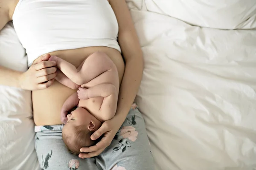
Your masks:
M116 105L118 93L116 87L111 84L99 84L91 88L79 88L79 99L89 99L93 97L104 97L100 112L103 112L102 119L104 121L112 119L116 113Z

